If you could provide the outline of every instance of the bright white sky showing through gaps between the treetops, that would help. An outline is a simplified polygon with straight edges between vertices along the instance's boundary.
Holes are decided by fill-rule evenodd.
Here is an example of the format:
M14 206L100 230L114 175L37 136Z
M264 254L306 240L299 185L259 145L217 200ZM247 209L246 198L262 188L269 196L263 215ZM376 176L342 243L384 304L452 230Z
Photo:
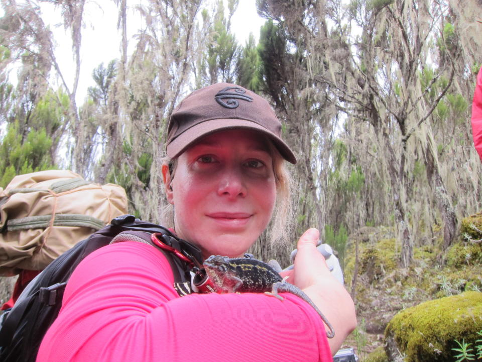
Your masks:
M186 0L189 1L189 0ZM136 28L142 26L141 17L133 11L134 4L139 1L128 0L128 34L130 43L134 44L132 34ZM225 2L226 3L226 2ZM256 0L239 0L236 13L231 19L231 31L236 36L238 43L244 45L250 32L256 39L259 38L260 28L265 23L256 12ZM56 57L61 72L66 79L69 90L72 90L74 80L74 60L72 57L71 40L69 32L59 26L60 12L53 12L53 6L42 6L44 22L50 24L57 42ZM227 15L227 11L225 13ZM82 29L81 67L80 79L76 93L77 106L80 106L86 97L87 87L94 85L92 69L101 62L106 65L110 60L119 58L119 45L121 44L120 32L117 31L117 10L111 1L103 1L102 8L98 2L87 1L84 7L85 28ZM49 21L50 20L50 21ZM15 71L14 71L15 72ZM60 82L59 82L60 84ZM54 88L57 85L52 84Z

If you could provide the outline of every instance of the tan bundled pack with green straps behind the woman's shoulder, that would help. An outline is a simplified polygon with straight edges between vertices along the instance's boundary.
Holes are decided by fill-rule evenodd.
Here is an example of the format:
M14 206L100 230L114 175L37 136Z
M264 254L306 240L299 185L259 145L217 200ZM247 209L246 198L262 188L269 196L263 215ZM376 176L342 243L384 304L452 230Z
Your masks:
M68 170L15 176L0 188L0 275L42 270L124 214L127 196L121 186L92 184Z

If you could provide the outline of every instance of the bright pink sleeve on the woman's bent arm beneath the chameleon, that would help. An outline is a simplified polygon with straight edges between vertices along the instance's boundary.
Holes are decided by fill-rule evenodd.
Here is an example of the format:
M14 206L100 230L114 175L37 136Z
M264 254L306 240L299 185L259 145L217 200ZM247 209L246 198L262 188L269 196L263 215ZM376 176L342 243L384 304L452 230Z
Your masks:
M75 269L37 362L331 361L321 318L300 298L178 297L150 245L103 247Z

